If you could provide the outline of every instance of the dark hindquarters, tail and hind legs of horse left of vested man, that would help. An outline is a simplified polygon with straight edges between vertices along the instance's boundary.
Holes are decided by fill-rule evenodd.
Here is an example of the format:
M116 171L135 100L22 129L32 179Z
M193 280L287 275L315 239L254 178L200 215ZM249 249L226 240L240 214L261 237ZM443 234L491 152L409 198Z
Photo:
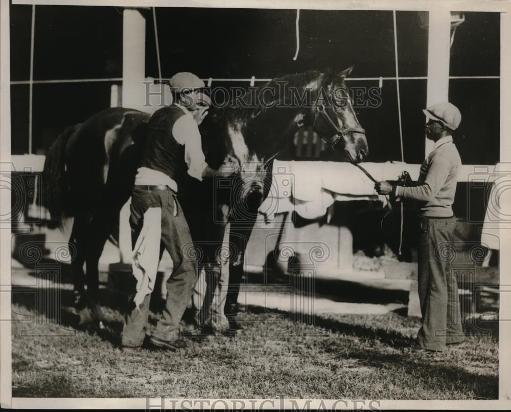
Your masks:
M47 150L40 202L61 229L67 218L74 218L68 245L81 318L87 302L95 317L100 316L99 257L108 237L117 243L119 211L130 196L136 174L132 165L150 117L112 107L65 128Z

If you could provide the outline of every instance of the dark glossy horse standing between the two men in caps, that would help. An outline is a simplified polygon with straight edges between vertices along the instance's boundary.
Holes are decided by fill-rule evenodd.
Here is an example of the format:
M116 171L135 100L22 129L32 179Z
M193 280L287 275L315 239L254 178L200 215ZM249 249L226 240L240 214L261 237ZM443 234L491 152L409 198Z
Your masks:
M187 187L179 188L178 198L195 245L193 253L183 253L199 259L200 266L218 281L218 246L230 223L226 307L238 300L246 244L258 208L268 196L272 161L298 129L312 127L339 154L339 161L358 163L367 156L365 131L345 85L352 69L340 73L310 70L275 78L258 89L273 91L269 101L240 106L230 100L226 105L212 105L200 124L206 163L223 170L227 182L219 184L216 177L202 182L190 178ZM149 118L136 110L106 109L67 128L50 146L44 163L43 193L47 196L43 205L59 222L74 216L69 243L77 251L72 263L76 305L88 306L93 315L100 313L99 257L130 196ZM210 293L212 286L208 285Z

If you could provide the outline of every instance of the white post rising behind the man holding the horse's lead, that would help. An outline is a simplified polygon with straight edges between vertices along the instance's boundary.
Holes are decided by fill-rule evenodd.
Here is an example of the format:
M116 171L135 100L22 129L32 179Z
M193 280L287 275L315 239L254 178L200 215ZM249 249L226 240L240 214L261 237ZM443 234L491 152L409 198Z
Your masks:
M429 11L427 106L449 100L450 49L451 12L437 7ZM433 142L426 139L426 156L432 148Z

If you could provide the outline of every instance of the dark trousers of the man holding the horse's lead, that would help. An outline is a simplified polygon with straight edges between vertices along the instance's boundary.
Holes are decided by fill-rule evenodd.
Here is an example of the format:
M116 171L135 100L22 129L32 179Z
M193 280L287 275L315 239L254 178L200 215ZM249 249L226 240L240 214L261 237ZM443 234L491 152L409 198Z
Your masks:
M424 349L442 351L446 343L464 340L453 260L456 218L421 217L419 243L419 299L422 327L417 343Z

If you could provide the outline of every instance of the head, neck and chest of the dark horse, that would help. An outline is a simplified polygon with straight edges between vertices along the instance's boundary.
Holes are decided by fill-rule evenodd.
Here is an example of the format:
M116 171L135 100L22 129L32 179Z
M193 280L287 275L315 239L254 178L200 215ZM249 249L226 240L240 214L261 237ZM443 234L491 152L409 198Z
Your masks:
M271 160L286 147L302 126L314 131L346 161L359 163L368 153L365 131L351 105L341 73L310 70L275 78L261 88L258 104L251 92L222 107L212 105L200 126L206 161L231 170L236 181L234 198L242 209L257 212L267 191ZM212 99L213 100L213 99ZM235 184L236 183L236 184Z

